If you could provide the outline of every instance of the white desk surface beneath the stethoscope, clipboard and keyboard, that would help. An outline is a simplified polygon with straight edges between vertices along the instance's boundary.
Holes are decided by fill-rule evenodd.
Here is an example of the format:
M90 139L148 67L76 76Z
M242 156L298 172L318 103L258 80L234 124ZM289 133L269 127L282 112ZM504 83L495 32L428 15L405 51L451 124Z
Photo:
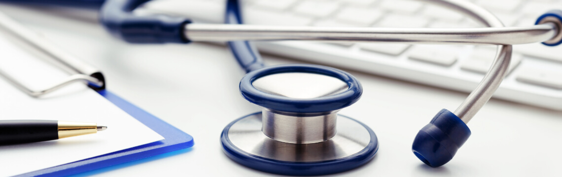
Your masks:
M224 46L131 45L95 22L1 6L8 13L103 71L107 89L191 134L195 146L97 170L94 176L275 176L228 159L222 129L260 109L238 91L243 76ZM265 55L268 64L301 63ZM380 148L368 164L333 176L560 176L562 112L492 99L468 124L472 136L448 164L432 168L411 152L419 131L439 110L454 111L466 93L350 71L364 94L343 109L369 125Z

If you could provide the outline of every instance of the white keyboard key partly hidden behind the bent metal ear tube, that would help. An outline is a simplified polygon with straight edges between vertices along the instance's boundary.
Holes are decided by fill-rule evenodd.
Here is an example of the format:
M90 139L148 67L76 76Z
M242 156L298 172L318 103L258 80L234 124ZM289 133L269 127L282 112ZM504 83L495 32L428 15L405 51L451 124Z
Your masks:
M460 68L467 71L486 73L492 66L495 54L495 49L475 48L470 57L466 59L463 64L461 64ZM513 71L513 69L519 65L522 59L523 55L521 54L511 54L511 62L509 64L509 68L507 69L507 74Z

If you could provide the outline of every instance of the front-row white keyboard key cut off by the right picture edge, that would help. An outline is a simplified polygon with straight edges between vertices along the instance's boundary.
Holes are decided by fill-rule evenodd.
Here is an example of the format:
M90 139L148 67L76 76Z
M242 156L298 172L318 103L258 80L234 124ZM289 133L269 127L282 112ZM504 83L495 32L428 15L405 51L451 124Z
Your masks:
M542 68L522 68L516 80L534 85L562 89L562 68L560 71Z

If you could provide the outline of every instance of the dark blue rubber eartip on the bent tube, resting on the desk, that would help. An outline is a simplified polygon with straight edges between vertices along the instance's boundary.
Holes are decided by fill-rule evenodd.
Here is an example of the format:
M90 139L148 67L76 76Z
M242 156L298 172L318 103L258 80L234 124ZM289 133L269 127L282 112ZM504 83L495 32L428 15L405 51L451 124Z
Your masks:
M425 164L438 167L447 164L470 136L466 124L446 109L439 111L414 139L412 151Z

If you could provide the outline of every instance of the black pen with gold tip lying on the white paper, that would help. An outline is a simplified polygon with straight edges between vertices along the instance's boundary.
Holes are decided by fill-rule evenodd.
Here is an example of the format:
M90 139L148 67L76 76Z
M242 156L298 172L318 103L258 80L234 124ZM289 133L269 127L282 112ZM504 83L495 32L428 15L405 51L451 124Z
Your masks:
M0 120L0 145L50 141L107 129L96 123L58 120Z

